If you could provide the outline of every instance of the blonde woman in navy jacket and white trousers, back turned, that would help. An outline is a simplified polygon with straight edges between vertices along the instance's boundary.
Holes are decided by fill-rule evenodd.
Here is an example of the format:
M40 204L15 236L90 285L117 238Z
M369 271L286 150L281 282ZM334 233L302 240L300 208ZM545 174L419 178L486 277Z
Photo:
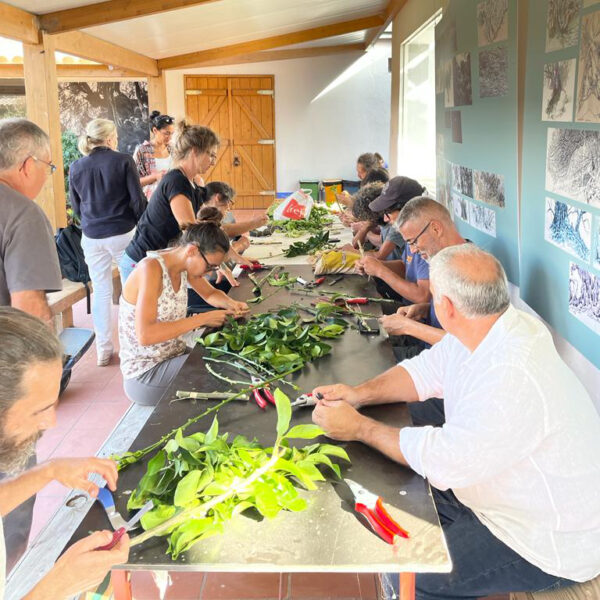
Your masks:
M98 366L103 367L113 353L112 264L121 260L131 241L146 198L133 158L116 152L117 128L112 121L90 121L78 146L84 157L69 170L69 196L73 212L81 217L81 246L94 288Z

